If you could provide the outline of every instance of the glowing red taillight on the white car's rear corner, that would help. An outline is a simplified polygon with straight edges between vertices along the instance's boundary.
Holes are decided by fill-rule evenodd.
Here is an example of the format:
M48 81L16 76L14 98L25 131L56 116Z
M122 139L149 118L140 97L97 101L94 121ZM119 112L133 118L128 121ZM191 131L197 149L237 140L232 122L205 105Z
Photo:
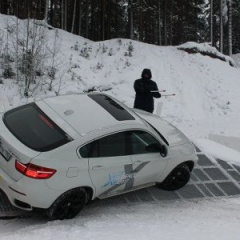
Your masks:
M23 164L18 160L15 161L15 168L23 175L35 179L48 179L54 175L55 169L37 166L35 164Z

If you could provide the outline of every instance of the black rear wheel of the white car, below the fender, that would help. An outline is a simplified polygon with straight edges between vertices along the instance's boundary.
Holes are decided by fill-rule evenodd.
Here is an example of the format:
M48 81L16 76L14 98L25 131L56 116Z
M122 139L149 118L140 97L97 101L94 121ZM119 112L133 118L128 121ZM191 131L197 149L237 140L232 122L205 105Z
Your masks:
M47 210L50 220L64 220L74 218L84 207L87 192L83 188L71 189L63 193Z

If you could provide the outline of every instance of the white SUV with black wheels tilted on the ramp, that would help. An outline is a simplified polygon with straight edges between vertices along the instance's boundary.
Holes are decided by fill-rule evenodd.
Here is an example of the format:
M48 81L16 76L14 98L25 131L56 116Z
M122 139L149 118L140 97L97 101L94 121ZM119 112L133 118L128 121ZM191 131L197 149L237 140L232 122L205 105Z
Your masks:
M95 198L179 189L196 161L175 127L101 93L48 98L0 119L0 188L14 206L46 209L52 220Z

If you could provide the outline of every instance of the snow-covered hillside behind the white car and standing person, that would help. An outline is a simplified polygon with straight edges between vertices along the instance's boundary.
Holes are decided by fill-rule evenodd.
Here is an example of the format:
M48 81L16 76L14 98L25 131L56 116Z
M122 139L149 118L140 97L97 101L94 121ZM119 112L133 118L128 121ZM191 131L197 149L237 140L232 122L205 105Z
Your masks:
M3 43L6 43L6 22L11 25L11 21L14 23L16 19L0 15ZM23 28L24 22L19 22ZM12 32L9 37L12 34L14 38ZM58 30L54 41L55 33L54 30L46 32L46 44L51 47L57 42L59 45L52 91L46 87L50 81L47 74L45 85L35 89L29 99L19 96L15 81L3 79L4 84L0 84L2 111L3 105L9 108L33 98L54 96L55 92L90 90L105 91L132 107L134 80L140 77L143 68L150 68L159 89L176 94L155 101L155 106L163 103L163 118L192 140L210 137L222 142L222 137L239 137L240 128L236 127L240 119L239 68L199 53L188 54L178 47L160 47L128 39L92 42L62 30ZM237 142L240 145L240 140Z

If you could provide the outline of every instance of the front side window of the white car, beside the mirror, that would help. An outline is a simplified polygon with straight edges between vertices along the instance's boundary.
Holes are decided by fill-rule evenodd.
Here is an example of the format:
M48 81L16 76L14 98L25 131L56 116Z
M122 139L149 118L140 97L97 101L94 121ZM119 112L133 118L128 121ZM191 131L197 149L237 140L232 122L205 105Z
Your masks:
M144 154L149 152L158 152L160 148L159 141L151 134L144 131L129 132L131 142L131 154ZM149 148L154 146L153 148Z

